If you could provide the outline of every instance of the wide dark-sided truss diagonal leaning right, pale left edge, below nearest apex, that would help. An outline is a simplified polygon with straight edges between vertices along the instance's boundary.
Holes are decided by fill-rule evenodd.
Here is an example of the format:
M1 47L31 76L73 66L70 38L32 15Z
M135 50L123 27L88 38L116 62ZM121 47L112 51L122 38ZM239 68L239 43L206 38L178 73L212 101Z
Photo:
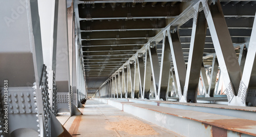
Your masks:
M202 64L206 36L206 21L204 13L199 12L199 5L194 6L193 28L188 54L184 98L180 102L197 102L198 79Z

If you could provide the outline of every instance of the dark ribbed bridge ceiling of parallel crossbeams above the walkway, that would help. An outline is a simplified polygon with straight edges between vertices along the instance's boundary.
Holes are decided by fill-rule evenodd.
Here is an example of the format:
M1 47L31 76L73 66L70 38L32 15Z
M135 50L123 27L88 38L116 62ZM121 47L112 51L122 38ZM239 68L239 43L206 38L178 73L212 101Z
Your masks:
M176 17L186 20L175 25L179 30L184 60L187 62L193 16L191 14L189 19L187 15L183 16L183 11L193 2L74 1L78 44L83 52L89 93L96 92L106 79ZM256 2L229 1L221 4L233 44L240 45L249 41ZM155 43L160 61L162 40L158 39ZM205 67L211 65L212 53L215 53L215 49L207 29L204 48Z

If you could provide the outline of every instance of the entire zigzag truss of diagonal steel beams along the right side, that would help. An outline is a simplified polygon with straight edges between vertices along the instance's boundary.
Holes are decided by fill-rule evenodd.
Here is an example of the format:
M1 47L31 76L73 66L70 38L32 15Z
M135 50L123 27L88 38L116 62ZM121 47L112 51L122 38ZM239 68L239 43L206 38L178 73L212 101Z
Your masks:
M180 102L197 102L198 95L211 98L226 94L228 105L255 106L255 42L254 39L248 41L246 37L254 37L256 21L246 28L251 29L249 34L234 36L237 30L243 32L243 25L240 27L239 23L230 22L234 16L228 10L237 11L230 6L233 2L191 1L189 4L116 71L128 68L128 73L123 75L124 82L118 83L118 86L126 87L121 92L127 96L122 98L168 100L170 96L175 98L178 95ZM236 4L240 8L244 3ZM253 7L252 4L250 6ZM250 12L250 17L254 17L255 9L250 9ZM190 35L184 35L183 30L190 30ZM244 40L240 41L242 37ZM100 86L99 93L103 92L105 83L112 83L110 79L114 76ZM139 93L134 81L139 81ZM224 90L220 91L219 87ZM104 93L108 94L109 90L98 97L108 97ZM139 96L135 96L135 91Z

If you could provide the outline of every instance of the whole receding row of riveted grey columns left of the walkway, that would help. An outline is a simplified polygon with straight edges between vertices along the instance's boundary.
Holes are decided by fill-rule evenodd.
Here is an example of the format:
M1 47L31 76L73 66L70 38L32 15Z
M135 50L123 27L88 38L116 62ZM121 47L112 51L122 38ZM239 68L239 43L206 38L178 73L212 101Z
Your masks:
M81 115L77 107L87 97L73 5L67 8L66 1L58 0L0 3L5 5L0 14L5 34L0 38L0 79L5 81L0 84L0 136L72 136L56 115Z

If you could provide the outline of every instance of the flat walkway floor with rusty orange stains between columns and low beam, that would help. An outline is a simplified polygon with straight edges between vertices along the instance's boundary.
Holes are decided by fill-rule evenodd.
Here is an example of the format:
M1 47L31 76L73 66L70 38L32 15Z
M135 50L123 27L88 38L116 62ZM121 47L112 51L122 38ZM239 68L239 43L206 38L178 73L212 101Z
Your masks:
M83 115L57 117L73 136L180 136L96 100L87 100L84 106L79 108Z

